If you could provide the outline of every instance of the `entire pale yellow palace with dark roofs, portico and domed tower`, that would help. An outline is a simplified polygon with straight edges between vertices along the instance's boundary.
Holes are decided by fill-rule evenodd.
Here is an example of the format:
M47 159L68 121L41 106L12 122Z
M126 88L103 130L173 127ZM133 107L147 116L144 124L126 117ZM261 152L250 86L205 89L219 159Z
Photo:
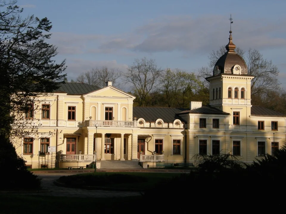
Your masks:
M266 153L275 155L286 142L286 115L251 105L254 76L234 49L230 31L226 53L206 78L209 106L133 107L135 97L112 82L104 88L62 84L30 104L23 117L40 125L38 133L18 139L22 146L16 151L31 168L104 168L108 161L114 167L140 162L147 168L228 152L250 163ZM34 111L36 105L40 111Z

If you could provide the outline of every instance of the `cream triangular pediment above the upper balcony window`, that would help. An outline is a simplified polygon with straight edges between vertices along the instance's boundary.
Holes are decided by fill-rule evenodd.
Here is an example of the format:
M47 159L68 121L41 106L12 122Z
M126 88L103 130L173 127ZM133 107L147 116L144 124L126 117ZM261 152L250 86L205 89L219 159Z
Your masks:
M83 97L121 97L121 98L133 98L133 95L130 95L120 89L117 89L113 86L106 86L104 88L98 89L96 91L87 93Z

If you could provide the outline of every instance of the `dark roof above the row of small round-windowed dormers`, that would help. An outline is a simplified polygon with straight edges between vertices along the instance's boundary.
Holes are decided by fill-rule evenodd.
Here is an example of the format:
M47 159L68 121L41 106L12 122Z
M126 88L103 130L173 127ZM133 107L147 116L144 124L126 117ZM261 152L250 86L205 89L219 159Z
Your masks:
M173 122L175 119L184 121L177 114L186 108L167 108L167 107L133 107L133 117L144 118L145 121L156 121L161 118L164 122Z

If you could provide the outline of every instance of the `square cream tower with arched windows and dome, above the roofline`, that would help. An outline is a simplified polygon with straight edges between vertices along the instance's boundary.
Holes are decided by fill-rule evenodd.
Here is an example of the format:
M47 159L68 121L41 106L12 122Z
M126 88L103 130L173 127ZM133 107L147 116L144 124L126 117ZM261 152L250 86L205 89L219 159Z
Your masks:
M226 53L217 60L213 75L206 78L210 83L209 104L230 114L235 110L250 115L251 80L254 76L248 75L245 61L234 51L232 31L229 33Z

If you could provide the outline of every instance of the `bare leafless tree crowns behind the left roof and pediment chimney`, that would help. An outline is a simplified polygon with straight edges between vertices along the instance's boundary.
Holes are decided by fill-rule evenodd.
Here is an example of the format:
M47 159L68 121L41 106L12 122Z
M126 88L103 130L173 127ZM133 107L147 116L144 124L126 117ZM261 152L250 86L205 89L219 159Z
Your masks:
M103 88L105 86L105 82L112 81L113 86L119 87L120 83L117 83L117 80L121 75L121 71L115 70L114 68L108 69L106 66L103 66L101 68L92 68L90 71L81 73L77 77L77 82L87 83L89 85Z

